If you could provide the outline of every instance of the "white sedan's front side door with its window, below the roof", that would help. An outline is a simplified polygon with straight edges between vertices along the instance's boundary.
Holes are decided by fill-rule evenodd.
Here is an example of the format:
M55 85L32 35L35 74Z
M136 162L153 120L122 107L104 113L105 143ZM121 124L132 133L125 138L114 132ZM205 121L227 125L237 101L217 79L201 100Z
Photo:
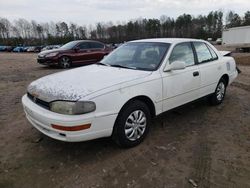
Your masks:
M169 57L169 64L183 61L186 68L163 72L163 111L175 108L199 97L200 75L195 64L195 54L192 44L184 42L177 44Z

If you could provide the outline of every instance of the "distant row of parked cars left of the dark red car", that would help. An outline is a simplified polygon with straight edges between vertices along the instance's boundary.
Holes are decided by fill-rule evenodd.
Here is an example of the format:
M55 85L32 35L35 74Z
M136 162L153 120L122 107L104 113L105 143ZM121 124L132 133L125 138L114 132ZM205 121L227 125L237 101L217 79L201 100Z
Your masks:
M1 46L0 52L41 52L45 50L57 49L61 45L48 45L48 46Z

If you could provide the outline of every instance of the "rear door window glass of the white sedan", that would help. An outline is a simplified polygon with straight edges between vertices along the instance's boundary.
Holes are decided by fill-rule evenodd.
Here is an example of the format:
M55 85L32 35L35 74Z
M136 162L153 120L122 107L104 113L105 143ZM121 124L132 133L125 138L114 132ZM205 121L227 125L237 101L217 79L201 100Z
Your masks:
M213 60L213 57L205 43L194 42L194 48L196 50L199 63L205 63Z

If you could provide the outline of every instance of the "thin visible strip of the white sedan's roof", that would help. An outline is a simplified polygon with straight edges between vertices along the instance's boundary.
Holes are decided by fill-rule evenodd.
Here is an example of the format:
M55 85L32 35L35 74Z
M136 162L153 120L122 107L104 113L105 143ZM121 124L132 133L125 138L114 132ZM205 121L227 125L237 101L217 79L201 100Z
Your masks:
M180 42L204 42L201 39L189 39L189 38L152 38L152 39L141 39L134 40L131 42L159 42L159 43L180 43Z

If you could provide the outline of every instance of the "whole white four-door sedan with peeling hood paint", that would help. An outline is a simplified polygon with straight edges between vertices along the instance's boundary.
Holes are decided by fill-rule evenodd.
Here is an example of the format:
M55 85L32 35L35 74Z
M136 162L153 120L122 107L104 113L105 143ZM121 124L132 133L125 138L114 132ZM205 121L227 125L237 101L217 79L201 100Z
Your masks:
M195 39L128 42L101 62L32 82L22 103L27 119L45 135L78 142L110 137L132 147L151 118L209 96L220 104L237 77L232 57Z

